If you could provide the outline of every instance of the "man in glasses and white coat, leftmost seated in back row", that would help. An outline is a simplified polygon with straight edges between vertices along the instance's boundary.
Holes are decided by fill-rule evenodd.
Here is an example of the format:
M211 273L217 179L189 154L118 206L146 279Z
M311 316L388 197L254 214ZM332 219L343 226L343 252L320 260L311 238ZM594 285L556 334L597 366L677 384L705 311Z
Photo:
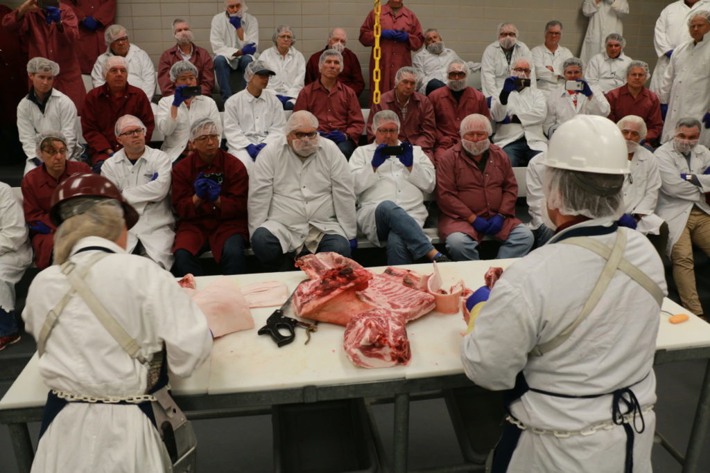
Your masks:
M106 82L104 62L109 57L126 58L126 69L129 70L129 84L145 92L148 101L155 95L155 67L148 53L129 43L129 33L121 25L111 25L104 33L106 52L97 57L94 70L91 72L91 82L94 88Z

